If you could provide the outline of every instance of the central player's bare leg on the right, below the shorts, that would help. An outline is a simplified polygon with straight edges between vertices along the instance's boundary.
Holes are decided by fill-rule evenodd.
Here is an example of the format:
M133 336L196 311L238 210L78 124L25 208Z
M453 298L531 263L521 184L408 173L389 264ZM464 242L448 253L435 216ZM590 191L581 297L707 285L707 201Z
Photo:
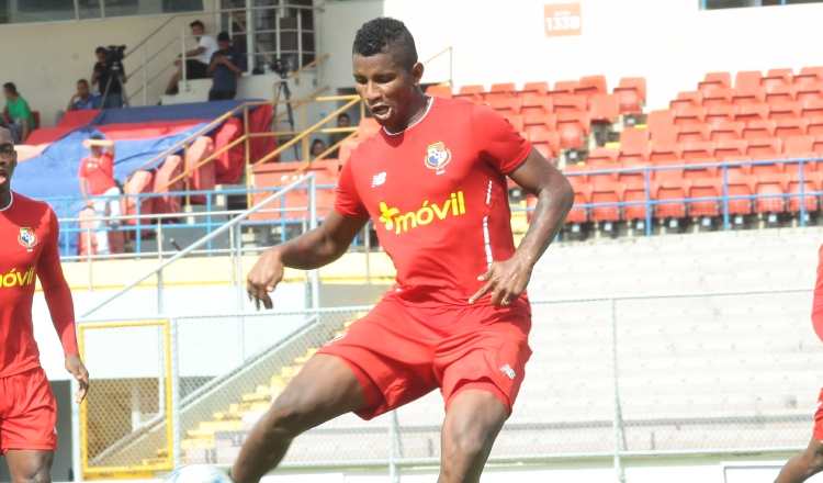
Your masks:
M440 435L438 483L478 482L504 423L506 407L491 393L470 390L458 394L449 405Z

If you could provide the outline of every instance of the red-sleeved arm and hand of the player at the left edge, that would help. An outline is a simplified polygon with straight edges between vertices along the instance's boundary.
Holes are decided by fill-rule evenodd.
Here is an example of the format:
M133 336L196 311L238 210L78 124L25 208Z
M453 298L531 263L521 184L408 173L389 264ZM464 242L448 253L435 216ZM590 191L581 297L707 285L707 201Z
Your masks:
M89 371L80 360L80 351L77 347L75 304L60 266L57 215L52 210L49 210L49 232L44 237L43 251L37 261L37 278L46 296L52 322L63 345L63 352L66 356L66 370L80 383L80 391L77 392L75 397L75 401L80 404L89 392Z

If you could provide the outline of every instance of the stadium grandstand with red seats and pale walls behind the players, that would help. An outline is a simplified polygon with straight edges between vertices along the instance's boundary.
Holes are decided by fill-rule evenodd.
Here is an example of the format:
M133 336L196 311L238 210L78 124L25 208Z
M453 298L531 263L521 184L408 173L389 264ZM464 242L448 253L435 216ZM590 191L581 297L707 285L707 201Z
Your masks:
M481 481L765 483L805 448L823 362L810 323L823 1L3 4L0 83L34 120L13 188L57 213L91 374L75 405L38 287L55 482L229 468L306 361L391 290L373 222L334 263L286 270L273 311L245 289L264 248L328 215L342 167L381 130L351 68L356 31L377 16L414 34L428 96L493 108L574 189L529 284L533 356ZM195 20L241 53L232 100L208 101L213 80L188 72L167 93ZM63 112L95 48L120 45L125 105ZM79 188L95 135L116 148L122 192L103 198L119 215ZM508 191L518 244L537 199ZM298 437L263 481L435 481L443 416L435 393L372 422L342 416Z

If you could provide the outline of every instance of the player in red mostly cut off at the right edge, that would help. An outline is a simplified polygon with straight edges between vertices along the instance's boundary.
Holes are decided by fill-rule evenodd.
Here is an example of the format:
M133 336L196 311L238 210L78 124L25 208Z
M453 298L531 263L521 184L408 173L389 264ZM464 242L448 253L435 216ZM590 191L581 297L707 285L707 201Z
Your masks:
M814 284L812 301L812 326L818 337L823 340L823 245L818 251L818 281ZM786 463L775 483L801 483L821 471L823 471L823 389L818 397L814 429L809 446Z

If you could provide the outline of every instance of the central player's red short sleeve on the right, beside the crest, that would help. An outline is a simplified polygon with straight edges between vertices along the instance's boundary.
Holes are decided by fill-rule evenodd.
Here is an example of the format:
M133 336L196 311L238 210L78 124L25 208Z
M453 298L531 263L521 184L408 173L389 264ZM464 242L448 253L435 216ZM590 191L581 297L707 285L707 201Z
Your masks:
M514 171L529 157L531 143L492 108L475 104L470 123L472 137L480 147L481 157L500 172Z

